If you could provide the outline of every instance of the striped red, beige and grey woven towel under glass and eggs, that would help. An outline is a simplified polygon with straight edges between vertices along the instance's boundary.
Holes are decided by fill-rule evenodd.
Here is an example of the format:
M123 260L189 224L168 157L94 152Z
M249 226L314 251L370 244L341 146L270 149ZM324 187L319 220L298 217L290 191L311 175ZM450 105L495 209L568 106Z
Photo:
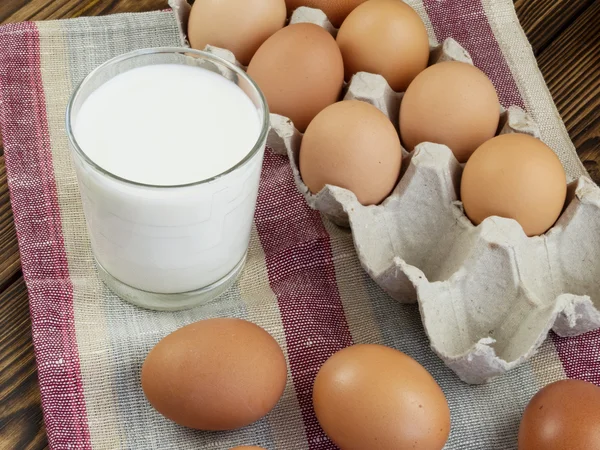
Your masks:
M532 114L569 179L584 173L511 0L408 3L432 40L453 37L469 51L504 106ZM600 383L600 333L550 338L508 375L462 383L429 349L417 307L394 302L371 281L349 232L308 208L287 159L269 150L247 265L227 294L177 313L141 310L111 294L93 264L65 108L77 83L107 59L182 44L170 12L0 28L0 126L51 448L333 449L311 407L312 383L321 364L352 343L392 346L435 376L452 411L448 449L514 449L521 413L539 388L567 377ZM253 321L278 340L289 363L287 389L271 414L243 430L184 429L146 402L141 365L168 333L219 316Z

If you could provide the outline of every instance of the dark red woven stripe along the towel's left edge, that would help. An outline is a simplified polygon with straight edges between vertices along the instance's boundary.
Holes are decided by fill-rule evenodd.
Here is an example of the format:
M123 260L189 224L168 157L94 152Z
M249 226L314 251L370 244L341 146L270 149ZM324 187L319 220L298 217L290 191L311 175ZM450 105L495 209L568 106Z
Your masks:
M91 449L33 23L0 28L0 126L51 448Z

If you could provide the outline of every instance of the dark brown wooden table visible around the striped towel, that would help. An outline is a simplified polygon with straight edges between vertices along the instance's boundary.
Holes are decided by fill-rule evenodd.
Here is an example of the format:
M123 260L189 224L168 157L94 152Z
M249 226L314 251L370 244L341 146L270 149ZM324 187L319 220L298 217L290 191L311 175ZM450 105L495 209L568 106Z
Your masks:
M0 22L149 11L166 0L2 0ZM579 156L600 184L600 0L516 0ZM0 141L0 450L47 447Z

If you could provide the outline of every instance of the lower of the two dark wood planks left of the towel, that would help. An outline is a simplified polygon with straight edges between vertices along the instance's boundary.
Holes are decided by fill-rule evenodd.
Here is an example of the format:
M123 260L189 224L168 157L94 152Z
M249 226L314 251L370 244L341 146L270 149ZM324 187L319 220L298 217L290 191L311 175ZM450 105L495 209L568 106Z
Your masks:
M0 294L0 449L45 448L27 290L19 278Z

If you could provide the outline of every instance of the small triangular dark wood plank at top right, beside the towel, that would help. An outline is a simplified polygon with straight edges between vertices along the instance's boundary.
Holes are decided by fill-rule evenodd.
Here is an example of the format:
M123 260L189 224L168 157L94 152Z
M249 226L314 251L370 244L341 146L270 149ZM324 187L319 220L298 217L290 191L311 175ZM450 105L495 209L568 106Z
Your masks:
M535 54L542 52L596 0L516 0L519 21Z

